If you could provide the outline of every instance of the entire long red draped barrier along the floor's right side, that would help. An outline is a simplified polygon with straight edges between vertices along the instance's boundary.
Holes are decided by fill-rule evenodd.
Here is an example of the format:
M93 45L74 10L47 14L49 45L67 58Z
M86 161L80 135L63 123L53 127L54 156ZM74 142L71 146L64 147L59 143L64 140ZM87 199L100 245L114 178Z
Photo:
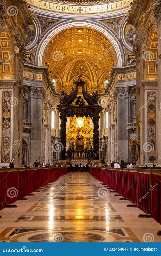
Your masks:
M90 173L161 223L161 173L93 167Z

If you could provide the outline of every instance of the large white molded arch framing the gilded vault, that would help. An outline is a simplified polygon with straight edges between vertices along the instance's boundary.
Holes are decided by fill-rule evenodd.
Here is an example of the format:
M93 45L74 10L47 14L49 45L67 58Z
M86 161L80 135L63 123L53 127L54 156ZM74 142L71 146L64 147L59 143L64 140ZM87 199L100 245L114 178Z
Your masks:
M49 34L46 36L45 39L43 39L43 42L40 43L40 46L37 48L37 52L38 52L38 56L37 56L37 65L38 66L42 66L42 57L43 57L43 52L44 49L46 48L48 42L52 39L52 37L54 37L54 35L56 35L57 33L61 32L62 30L66 29L66 28L70 28L70 27L90 27L93 28L99 32L101 32L102 34L104 34L112 43L116 54L117 54L117 62L118 62L118 66L121 67L123 64L122 61L122 54L121 54L121 45L119 43L119 41L114 38L105 28L103 28L102 26L99 26L96 23L93 22L85 22L82 20L79 21L74 21L74 22L68 22L68 23L64 23L61 26L59 25L58 27L54 28L52 31L49 32Z

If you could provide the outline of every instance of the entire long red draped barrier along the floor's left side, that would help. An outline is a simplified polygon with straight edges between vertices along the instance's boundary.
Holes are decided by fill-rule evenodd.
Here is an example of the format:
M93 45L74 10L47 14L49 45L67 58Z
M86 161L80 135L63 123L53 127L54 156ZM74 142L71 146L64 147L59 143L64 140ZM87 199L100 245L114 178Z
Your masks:
M66 173L66 167L0 171L0 210Z

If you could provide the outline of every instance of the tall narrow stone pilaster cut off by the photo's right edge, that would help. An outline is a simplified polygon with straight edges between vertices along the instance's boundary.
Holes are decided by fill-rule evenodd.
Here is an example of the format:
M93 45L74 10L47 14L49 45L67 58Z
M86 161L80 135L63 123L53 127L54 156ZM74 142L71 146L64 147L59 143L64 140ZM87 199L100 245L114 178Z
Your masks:
M158 111L157 111L157 164L161 166L161 0L154 5L154 17L158 31Z

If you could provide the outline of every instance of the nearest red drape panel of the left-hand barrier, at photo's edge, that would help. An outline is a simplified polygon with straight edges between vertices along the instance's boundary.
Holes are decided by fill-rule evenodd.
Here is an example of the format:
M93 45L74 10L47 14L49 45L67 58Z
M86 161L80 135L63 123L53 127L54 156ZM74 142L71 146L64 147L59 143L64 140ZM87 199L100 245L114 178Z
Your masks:
M6 171L0 171L0 210L5 207Z

